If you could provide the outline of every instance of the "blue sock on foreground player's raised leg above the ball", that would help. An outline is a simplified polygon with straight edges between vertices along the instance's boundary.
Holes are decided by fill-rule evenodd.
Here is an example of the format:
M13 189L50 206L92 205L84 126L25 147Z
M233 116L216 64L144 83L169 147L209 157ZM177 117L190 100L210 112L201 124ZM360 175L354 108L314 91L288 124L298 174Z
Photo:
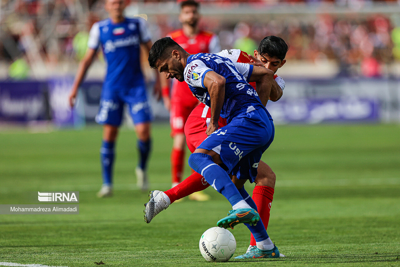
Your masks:
M204 176L211 186L220 192L233 206L240 200L242 196L236 186L230 180L229 175L224 169L212 161L211 156L204 153L194 153L189 157L189 166L197 173Z

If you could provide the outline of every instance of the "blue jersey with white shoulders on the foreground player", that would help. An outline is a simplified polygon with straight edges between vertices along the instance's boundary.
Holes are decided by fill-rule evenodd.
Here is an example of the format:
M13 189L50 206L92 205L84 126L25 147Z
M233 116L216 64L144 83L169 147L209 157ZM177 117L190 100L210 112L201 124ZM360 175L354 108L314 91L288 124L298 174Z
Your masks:
M204 86L204 76L215 71L225 77L225 97L220 116L228 119L264 106L256 90L248 84L253 65L233 63L226 57L216 54L199 53L188 57L184 78L190 90L202 103L210 107L210 94Z

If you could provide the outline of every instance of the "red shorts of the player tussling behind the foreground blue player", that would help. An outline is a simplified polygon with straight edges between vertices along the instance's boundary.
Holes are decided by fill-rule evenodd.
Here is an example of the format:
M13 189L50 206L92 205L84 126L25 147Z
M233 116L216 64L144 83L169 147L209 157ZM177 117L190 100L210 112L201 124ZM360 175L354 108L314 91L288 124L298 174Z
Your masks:
M207 138L207 123L210 122L209 118L202 117L188 117L185 124L186 144L190 152L194 152L198 146ZM226 119L220 117L218 120L218 128L226 125Z

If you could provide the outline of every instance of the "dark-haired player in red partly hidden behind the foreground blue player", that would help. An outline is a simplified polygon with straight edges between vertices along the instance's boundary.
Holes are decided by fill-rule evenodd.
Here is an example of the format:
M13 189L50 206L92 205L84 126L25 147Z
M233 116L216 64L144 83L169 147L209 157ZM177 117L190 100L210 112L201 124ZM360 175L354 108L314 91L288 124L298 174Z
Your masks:
M286 60L286 52L288 46L282 38L276 36L265 37L258 47L258 50L254 51L254 57L249 56L247 53L240 51L238 49L228 49L217 53L222 57L228 57L231 61L250 63L258 66L264 66L276 73L280 67L282 67ZM271 55L271 56L270 56ZM285 83L281 77L274 75L274 81L272 81L271 93L269 95L269 100L278 101L282 96ZM254 88L256 88L255 83L250 83ZM266 105L268 99L260 99L263 105ZM184 131L186 135L186 142L189 150L193 153L194 150L202 143L204 139L207 138L206 129L208 123L210 122L210 108L203 103L200 103L189 115ZM218 121L219 127L226 125L226 120L220 117ZM264 223L265 228L268 227L271 203L274 195L275 179L276 176L272 169L263 161L260 161L257 168L256 186L253 190L253 200L257 205L258 213L260 218ZM238 188L241 188L245 180L239 180L233 176L232 180ZM170 203L188 196L195 191L204 190L210 186L206 180L198 173L193 173L191 176L186 178L177 186L163 192L163 194L158 194L160 199L153 199L154 208L151 214L146 213L146 222L150 223L151 219L156 216L161 210L167 208ZM158 191L158 190L156 190ZM154 191L154 192L156 192ZM152 201L152 199L150 199ZM150 202L149 201L149 202ZM150 216L148 216L150 215ZM251 235L249 249L252 249L256 245L254 237Z

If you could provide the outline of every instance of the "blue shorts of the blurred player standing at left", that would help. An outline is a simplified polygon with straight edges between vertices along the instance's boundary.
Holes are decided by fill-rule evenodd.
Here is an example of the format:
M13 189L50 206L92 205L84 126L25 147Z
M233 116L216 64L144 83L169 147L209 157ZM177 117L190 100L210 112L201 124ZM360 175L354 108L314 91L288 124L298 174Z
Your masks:
M129 89L105 90L103 88L96 122L120 126L124 104L128 106L134 124L146 123L152 120L150 105L147 101L146 86L141 83Z

